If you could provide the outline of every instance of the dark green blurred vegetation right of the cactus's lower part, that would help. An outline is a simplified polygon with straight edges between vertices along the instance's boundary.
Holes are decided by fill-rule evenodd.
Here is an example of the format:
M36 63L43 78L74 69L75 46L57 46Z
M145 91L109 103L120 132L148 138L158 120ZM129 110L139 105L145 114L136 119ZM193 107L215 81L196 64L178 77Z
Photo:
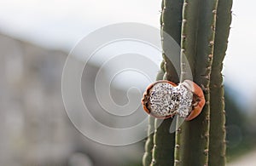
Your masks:
M225 111L226 111L226 128L227 128L227 160L250 152L255 146L256 129L252 128L247 117L248 108L242 108L236 103L232 90L225 89ZM254 118L254 120L256 120Z

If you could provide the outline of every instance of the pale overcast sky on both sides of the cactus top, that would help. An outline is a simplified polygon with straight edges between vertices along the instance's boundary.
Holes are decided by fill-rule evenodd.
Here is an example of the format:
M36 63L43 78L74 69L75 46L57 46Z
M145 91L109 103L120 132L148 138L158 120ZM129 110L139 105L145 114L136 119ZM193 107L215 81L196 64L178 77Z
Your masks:
M253 101L256 94L256 1L234 0L225 81ZM97 28L119 22L159 27L157 0L1 0L0 32L53 49L72 49Z

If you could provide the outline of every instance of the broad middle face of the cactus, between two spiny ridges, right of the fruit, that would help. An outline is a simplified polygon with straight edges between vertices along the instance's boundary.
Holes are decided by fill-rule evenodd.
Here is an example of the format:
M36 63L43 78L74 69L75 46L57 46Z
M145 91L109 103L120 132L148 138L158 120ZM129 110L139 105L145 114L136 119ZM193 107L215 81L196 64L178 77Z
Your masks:
M194 82L204 90L206 106L194 120L184 122L176 133L175 165L207 165L210 129L210 74L214 48L218 0L185 0L181 34L182 53L194 74ZM187 66L183 66L181 81Z

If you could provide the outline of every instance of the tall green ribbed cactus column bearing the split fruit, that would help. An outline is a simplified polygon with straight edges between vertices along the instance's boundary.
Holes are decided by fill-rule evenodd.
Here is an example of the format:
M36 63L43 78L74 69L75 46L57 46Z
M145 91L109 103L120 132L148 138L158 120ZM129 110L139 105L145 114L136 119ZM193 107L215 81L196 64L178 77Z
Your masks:
M165 61L162 67L164 78L173 83L183 82L190 79L188 69L191 69L193 81L204 91L206 105L198 117L184 122L177 129L175 141L174 134L169 133L172 118L162 123L155 119L154 141L152 135L148 137L147 143L151 140L150 146L147 144L150 151L146 148L143 165L149 165L150 159L151 165L164 166L225 164L224 88L221 71L230 31L231 5L232 0L162 1L160 24ZM176 73L170 56L165 54L167 44L163 31L181 45L181 73ZM145 156L148 156L147 162Z

